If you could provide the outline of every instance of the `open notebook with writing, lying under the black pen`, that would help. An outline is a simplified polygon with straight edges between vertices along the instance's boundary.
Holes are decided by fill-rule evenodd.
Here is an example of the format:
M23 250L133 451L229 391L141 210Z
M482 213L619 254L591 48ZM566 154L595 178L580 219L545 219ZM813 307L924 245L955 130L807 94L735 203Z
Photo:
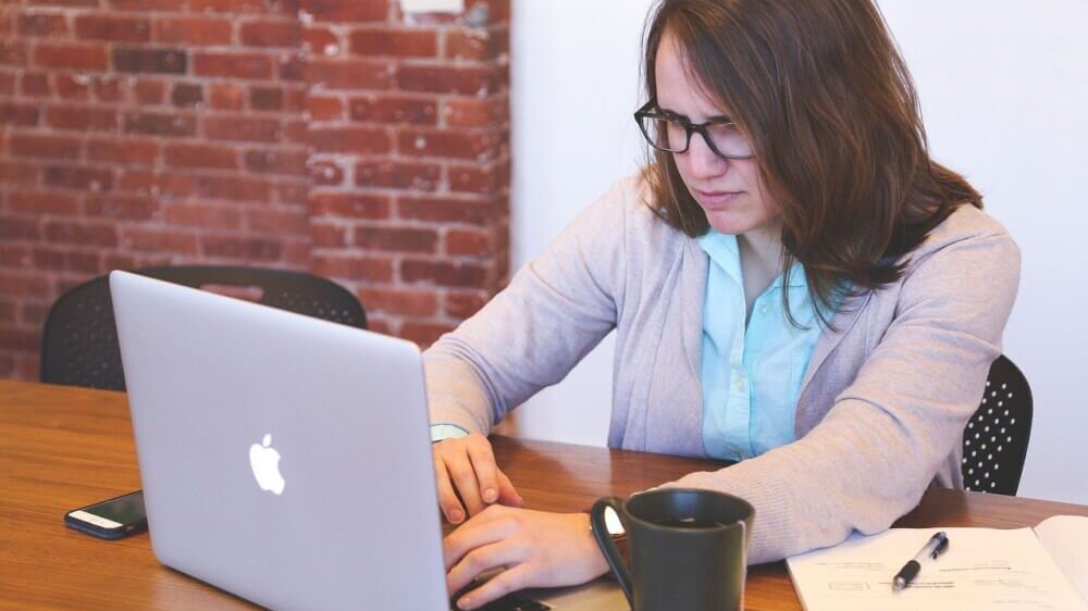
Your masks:
M892 577L938 531L949 549L910 587ZM891 528L787 559L805 611L1088 611L1088 518L1035 528Z

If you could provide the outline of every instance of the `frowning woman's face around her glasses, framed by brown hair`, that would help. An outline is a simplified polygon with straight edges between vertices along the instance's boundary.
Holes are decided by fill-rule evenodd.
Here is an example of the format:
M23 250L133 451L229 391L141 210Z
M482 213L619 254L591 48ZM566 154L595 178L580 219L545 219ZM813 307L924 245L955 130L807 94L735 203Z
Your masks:
M720 103L707 98L697 80L684 70L684 55L666 35L657 50L657 105L662 111L687 117L692 123L729 116ZM724 234L777 236L776 207L764 195L755 159L727 160L707 147L698 134L682 153L673 153L680 177L706 213L710 226ZM754 236L752 236L754 237Z

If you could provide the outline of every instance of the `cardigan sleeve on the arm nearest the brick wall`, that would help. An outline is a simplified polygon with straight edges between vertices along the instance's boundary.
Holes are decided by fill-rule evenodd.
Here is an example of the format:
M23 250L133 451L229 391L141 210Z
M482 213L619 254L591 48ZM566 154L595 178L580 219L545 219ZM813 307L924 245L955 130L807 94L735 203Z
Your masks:
M432 424L486 434L561 381L616 326L631 197L630 180L613 186L423 353Z

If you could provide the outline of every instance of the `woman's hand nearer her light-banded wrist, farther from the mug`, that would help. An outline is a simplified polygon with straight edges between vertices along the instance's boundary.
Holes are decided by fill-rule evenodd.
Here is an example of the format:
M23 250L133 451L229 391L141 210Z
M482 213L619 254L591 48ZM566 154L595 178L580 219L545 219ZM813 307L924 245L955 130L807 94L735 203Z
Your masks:
M453 524L460 524L466 511L475 515L495 502L510 507L526 503L510 478L495 464L491 442L479 433L435 444L434 474L438 507Z

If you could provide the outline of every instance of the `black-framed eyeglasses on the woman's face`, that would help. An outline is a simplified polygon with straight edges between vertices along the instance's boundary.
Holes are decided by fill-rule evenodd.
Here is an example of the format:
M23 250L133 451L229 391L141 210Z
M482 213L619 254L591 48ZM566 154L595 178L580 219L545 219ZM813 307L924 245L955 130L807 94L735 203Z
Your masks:
M657 100L651 98L634 112L634 121L650 146L670 153L687 152L691 146L691 135L703 137L706 146L722 159L752 159L752 145L740 127L729 120L712 120L692 123L682 116L664 113L657 108Z

